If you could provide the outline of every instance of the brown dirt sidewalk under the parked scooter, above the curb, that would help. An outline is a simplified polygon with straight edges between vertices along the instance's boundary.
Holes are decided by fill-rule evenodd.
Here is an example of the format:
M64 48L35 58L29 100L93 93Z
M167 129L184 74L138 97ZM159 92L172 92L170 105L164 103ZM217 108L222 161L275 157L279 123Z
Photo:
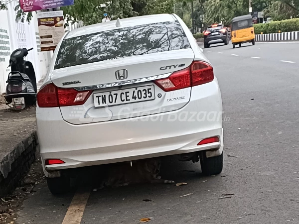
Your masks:
M35 107L14 112L0 105L0 160L35 129Z

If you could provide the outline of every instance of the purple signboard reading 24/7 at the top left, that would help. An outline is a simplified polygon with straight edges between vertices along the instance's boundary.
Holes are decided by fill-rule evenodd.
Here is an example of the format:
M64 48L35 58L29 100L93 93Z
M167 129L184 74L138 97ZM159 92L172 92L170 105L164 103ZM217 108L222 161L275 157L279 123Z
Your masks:
M74 0L20 0L22 11L37 11L74 4Z

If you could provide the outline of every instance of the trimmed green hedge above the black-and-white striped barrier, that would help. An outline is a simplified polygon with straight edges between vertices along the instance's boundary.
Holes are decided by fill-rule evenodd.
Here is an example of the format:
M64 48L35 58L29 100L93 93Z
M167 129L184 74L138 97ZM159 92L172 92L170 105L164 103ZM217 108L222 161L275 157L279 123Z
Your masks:
M299 31L299 18L273 21L265 24L255 24L255 34Z

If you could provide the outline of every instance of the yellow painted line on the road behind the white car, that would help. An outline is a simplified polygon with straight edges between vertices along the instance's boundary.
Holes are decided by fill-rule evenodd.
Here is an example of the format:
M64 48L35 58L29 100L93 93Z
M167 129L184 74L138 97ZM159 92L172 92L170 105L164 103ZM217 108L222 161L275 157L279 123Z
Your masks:
M90 195L90 189L79 189L65 214L62 224L80 224Z

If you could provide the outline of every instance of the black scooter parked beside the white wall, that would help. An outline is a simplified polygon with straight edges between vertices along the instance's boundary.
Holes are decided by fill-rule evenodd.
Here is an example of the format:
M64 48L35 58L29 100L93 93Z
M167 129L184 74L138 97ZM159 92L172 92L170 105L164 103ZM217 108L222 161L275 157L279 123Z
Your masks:
M34 68L31 62L25 61L24 57L28 55L27 50L16 49L10 55L9 66L11 72L8 74L6 81L6 95L4 96L7 105L13 110L22 110L26 106L36 104L36 78Z

